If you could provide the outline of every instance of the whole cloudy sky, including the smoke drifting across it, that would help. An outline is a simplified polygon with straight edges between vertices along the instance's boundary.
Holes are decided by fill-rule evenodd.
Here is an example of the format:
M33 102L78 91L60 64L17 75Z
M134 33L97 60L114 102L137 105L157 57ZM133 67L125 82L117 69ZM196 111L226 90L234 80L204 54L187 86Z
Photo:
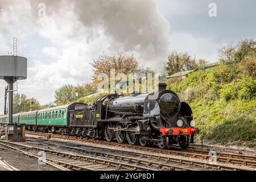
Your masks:
M208 0L0 0L0 55L27 57L18 92L40 104L65 84L90 82L102 53L133 54L141 67L163 71L170 52L209 63L229 42L256 36L256 2ZM0 113L6 82L0 80Z

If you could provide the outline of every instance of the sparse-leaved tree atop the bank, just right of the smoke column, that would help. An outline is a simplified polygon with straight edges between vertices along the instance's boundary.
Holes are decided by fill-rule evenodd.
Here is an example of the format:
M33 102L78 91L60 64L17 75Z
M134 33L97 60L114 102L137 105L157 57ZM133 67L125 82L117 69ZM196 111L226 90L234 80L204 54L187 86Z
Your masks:
M169 75L181 71L195 69L196 67L197 63L195 57L192 59L187 52L178 53L177 51L173 51L168 56L168 61L166 63L166 70Z

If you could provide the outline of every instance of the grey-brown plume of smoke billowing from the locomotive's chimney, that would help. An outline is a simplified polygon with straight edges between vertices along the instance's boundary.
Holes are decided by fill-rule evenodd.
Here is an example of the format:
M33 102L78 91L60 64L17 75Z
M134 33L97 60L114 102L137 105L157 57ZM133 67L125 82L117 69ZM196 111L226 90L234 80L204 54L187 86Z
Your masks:
M101 28L105 35L113 39L113 44L109 47L112 52L134 53L144 67L156 68L158 71L163 69L163 61L168 55L170 25L159 13L154 0L28 0L28 2L31 10L29 15L32 14L31 20L38 19L39 3L46 4L47 16L57 14L64 7L66 9L68 7L73 9L84 27L92 31ZM1 0L0 8L8 4L10 1ZM97 31L93 32L92 36L97 36ZM108 50L103 51L108 52Z

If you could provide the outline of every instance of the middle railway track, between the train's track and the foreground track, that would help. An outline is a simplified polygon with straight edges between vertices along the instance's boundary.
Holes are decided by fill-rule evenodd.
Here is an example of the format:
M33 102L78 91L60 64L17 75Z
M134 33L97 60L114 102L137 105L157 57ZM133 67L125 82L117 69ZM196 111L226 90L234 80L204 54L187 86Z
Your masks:
M115 149L110 149L106 147L99 147L99 146L93 146L93 145L88 145L88 144L81 144L81 143L71 143L71 142L63 142L59 140L53 140L50 139L48 142L46 140L34 140L34 139L27 139L28 141L32 142L39 142L42 144L46 145L52 145L52 146L59 146L59 147L65 147L69 148L71 150L75 151L80 151L83 154L89 154L93 156L105 156L107 158L123 158L125 160L127 155L131 156L137 156L137 158L133 158L133 161L136 162L137 164L140 163L143 159L149 159L151 161L150 165L153 165L155 167L158 166L158 168L164 167L166 163L172 163L172 164L184 164L187 166L187 168L195 168L199 170L205 170L205 169L211 169L211 170L225 170L225 171L240 171L240 170L246 170L244 168L236 168L236 167L231 167L231 166L225 166L221 164L210 164L206 162L200 162L200 161L191 161L188 159L181 159L177 157L172 157L172 156L160 156L160 155L154 155L154 154L148 154L145 152L131 152L127 150L119 150L117 148ZM55 143L49 143L49 142L55 142ZM57 142L57 143L56 143ZM73 147L75 146L75 147ZM81 147L87 147L87 148L81 148ZM89 149L88 149L89 147ZM126 155L126 156L124 156ZM153 161L155 160L155 161ZM146 161L143 161L146 162ZM148 165L148 164L147 164ZM170 167L170 166L168 166ZM166 169L168 167L164 167L163 169Z

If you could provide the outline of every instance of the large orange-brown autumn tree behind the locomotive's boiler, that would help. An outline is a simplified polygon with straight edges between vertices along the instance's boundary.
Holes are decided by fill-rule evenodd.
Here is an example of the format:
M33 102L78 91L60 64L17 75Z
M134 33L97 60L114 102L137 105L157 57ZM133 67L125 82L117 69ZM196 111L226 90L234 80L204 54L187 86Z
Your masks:
M109 56L103 53L97 60L93 60L90 63L93 67L92 80L93 86L96 88L98 82L98 75L105 73L110 78L110 70L115 69L115 76L118 73L134 73L138 68L138 62L133 55L127 56L125 54L118 53L117 56Z

